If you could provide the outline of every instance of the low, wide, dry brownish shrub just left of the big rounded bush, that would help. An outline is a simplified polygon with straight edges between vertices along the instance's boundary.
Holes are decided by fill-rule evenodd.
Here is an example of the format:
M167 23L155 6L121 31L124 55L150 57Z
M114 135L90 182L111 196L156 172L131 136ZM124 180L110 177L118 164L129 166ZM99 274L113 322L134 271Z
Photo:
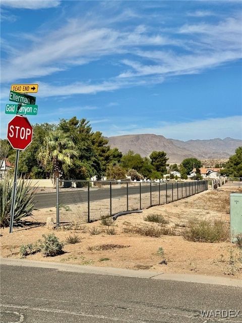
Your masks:
M170 228L158 227L154 225L129 226L123 229L125 233L137 233L141 236L160 237L162 235L174 235L174 231Z

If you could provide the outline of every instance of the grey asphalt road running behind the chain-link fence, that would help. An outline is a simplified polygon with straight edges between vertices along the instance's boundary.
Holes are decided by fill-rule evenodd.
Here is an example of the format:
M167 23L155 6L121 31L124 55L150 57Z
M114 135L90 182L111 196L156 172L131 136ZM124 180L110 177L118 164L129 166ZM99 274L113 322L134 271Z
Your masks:
M191 190L192 190L192 184L198 185L198 182L194 182L190 184ZM167 184L168 190L171 190L171 185L172 185L171 183ZM178 183L178 185L179 187L181 187L181 183ZM177 184L174 183L173 187L174 187L174 193L175 193ZM165 184L160 184L160 191L164 191L165 189L166 189ZM140 194L139 184L137 184L137 186L130 186L128 190L129 190L129 195ZM159 191L159 185L158 184L152 185L152 192L158 192L158 191ZM149 193L149 192L150 192L149 184L141 185L142 194ZM185 192L185 188L184 188L184 192ZM112 197L119 197L119 196L126 196L126 195L127 195L126 187L112 189ZM92 188L90 189L90 201L97 201L97 200L102 200L106 198L110 198L109 188L105 188L105 189L102 188L97 190L93 190ZM63 191L62 189L60 189L59 203L70 205L70 204L87 202L87 199L88 199L87 190L70 189L70 191ZM38 209L45 208L45 207L54 207L56 205L56 193L36 194L35 201L36 201L35 207Z

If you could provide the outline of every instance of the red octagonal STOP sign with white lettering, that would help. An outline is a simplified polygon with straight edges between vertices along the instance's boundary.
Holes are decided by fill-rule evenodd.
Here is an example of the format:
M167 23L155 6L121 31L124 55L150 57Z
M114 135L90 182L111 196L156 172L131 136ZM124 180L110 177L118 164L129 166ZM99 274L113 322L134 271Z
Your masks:
M24 150L32 137L33 128L26 117L15 116L8 124L7 138L14 149Z

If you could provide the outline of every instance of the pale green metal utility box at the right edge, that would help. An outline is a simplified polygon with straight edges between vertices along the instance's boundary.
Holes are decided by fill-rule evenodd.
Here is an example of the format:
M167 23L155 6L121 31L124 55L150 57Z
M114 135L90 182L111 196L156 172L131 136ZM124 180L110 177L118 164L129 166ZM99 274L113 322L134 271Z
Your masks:
M236 236L242 236L242 193L230 194L230 238L236 242Z

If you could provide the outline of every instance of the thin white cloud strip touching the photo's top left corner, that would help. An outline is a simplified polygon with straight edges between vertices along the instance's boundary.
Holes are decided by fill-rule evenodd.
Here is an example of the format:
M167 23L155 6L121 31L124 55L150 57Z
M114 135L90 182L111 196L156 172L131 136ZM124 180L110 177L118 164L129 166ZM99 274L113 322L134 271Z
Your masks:
M1 6L18 9L46 9L59 6L58 0L1 0Z

